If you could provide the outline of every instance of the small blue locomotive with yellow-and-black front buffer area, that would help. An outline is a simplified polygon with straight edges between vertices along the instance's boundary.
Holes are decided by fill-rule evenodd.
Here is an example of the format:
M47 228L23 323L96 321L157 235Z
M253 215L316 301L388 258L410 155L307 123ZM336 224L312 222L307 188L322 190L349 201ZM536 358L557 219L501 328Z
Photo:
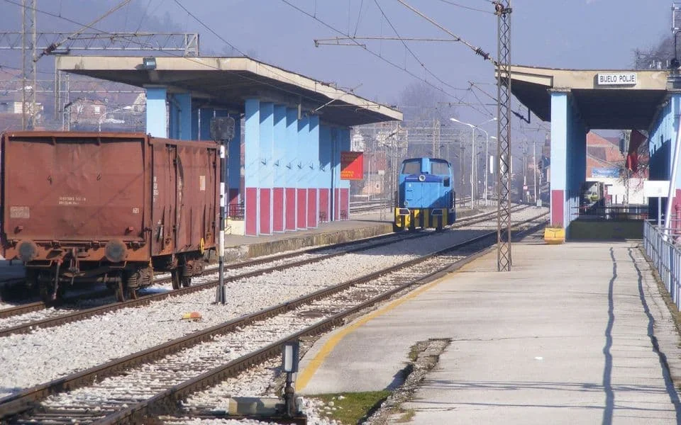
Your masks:
M454 176L444 159L405 159L399 170L393 229L452 225L456 220Z

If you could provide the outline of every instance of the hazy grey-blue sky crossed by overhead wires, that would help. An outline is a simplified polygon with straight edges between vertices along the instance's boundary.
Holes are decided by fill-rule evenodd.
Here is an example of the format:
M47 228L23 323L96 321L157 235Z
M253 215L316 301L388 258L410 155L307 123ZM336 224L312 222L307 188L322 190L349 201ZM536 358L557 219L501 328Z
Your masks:
M497 19L489 0L404 1L450 33L497 56ZM38 8L62 17L77 16L79 22L94 20L114 4L118 0L38 0ZM633 65L634 49L652 47L670 34L669 0L512 0L511 6L514 64L626 69ZM17 13L16 5L0 0L0 16ZM450 112L460 120L482 123L496 113L489 106L492 99L482 92L496 96L492 64L461 42L406 42L411 52L399 40L362 41L366 50L356 45L315 47L315 39L348 34L395 37L397 32L403 38L453 40L398 0L132 0L97 27L132 31L154 23L163 28L164 18L165 28L201 33L203 52L233 52L226 40L255 59L389 104L400 103L407 85L427 81L445 101L457 104ZM16 26L20 21L5 23ZM79 29L40 14L38 23L40 30ZM473 89L470 83L475 84ZM513 109L526 111L517 102ZM541 133L542 139L548 128L538 120L525 125L516 118L513 125Z

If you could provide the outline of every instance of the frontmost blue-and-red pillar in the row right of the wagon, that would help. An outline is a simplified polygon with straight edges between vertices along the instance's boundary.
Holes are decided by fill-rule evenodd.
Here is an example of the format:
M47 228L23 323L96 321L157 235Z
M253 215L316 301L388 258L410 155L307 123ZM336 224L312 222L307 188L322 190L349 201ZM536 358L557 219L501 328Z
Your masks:
M245 101L244 131L244 186L245 186L245 234L258 236L260 233L260 100L257 98Z

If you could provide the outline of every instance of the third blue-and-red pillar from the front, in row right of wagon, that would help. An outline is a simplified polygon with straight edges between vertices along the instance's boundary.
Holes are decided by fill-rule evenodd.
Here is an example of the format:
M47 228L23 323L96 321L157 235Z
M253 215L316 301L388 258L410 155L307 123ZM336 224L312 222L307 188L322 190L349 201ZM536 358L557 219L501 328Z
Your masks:
M286 188L286 106L275 105L274 111L274 146L273 146L273 166L274 184L272 185L272 230L274 232L284 232L286 228L286 199L284 188Z

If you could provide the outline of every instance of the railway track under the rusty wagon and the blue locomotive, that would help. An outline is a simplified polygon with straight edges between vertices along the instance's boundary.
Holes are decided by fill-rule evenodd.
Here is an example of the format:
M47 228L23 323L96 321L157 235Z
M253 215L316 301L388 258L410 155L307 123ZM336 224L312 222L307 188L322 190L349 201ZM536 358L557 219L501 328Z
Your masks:
M520 210L524 210L525 208L528 208L527 205L516 205L514 208L511 209L512 212L517 212ZM463 220L460 220L459 222L456 222L451 228L453 229L458 229L461 227L466 227L470 225L475 225L480 222L485 222L489 220L490 217L493 217L496 215L496 212L486 212L480 215L475 215L472 217L467 217ZM421 237L425 236L427 233L419 233L414 236L411 234L407 233L401 233L399 234L399 237ZM408 235L408 236L404 236ZM355 249L370 249L376 246L381 246L382 244L388 244L388 243L397 243L402 241L403 239L394 239L395 236L394 234L387 234L387 235L382 235L380 237L374 237L367 239L367 241L350 241L350 242L342 242L340 244L334 244L332 246L317 246L311 249L306 249L304 251L296 251L296 252L289 252L286 254L279 254L276 256L267 256L267 257L262 257L258 259L253 259L250 261L245 261L243 263L233 263L228 266L229 271L236 271L240 270L243 268L250 268L250 267L255 267L255 266L260 266L262 264L266 263L273 263L277 261L285 261L287 259L292 259L292 258L297 258L301 255L314 255L319 252L323 251L330 251L334 249L344 249L346 246L355 246ZM374 244L376 243L376 244ZM358 245L360 244L360 245ZM368 246L362 246L361 244L369 244ZM341 251L338 254L335 255L341 255L345 253L353 252L353 250L345 250ZM321 256L319 257L319 261L330 258L328 256ZM299 266L302 263L292 263L291 267L294 266ZM213 275L216 273L216 266L209 266L209 268L206 268L204 270L204 276L206 275ZM276 268L276 267L271 267L271 268L265 268L261 271L259 274L265 274L265 273L270 273L271 271L276 271L276 270L282 270L282 268ZM253 276L258 276L258 273L256 274L251 274L251 273L244 273L241 275L234 275L230 276L230 280L238 280L240 278L250 278ZM170 283L170 276L164 276L160 278L155 278L154 280L155 285L162 285L162 284L167 284ZM182 288L181 290L175 290L172 293L161 293L161 294L154 294L154 295L145 295L138 300L129 300L127 302L119 303L119 302L114 302L112 300L109 291L97 291L95 293L85 293L81 295L77 295L74 297L68 297L63 302L61 303L60 306L57 306L57 308L50 310L49 313L41 313L40 317L35 318L35 317L29 317L27 316L25 319L17 319L16 321L12 321L10 325L7 324L2 324L0 322L0 337L2 336L8 336L11 334L22 334L26 333L28 331L32 331L33 329L38 329L38 328L48 328L48 327L55 327L55 326L60 326L61 324L66 324L70 322L74 322L77 320L82 320L86 319L87 317L92 317L97 314L104 314L106 312L111 312L114 310L118 310L120 308L124 307L136 307L138 305L144 305L148 302L156 301L156 300L162 300L165 297L169 296L175 296L175 295L184 295L187 293L192 293L196 290L204 290L211 288L215 285L216 281L211 280L208 283L202 283L200 285L194 285L193 287L190 288ZM179 291L179 292L178 292ZM100 298L101 302L97 302L96 300L90 300L91 304L94 304L96 306L94 307L87 307L83 308L82 307L82 302L84 300L87 300L87 298ZM99 304L99 305L97 305ZM30 302L28 304L23 304L23 305L18 305L16 307L9 307L9 308L4 308L0 309L0 319L7 319L10 317L17 317L17 316L22 316L31 312L42 312L43 310L47 309L49 306L45 305L44 302L38 301L38 302Z

